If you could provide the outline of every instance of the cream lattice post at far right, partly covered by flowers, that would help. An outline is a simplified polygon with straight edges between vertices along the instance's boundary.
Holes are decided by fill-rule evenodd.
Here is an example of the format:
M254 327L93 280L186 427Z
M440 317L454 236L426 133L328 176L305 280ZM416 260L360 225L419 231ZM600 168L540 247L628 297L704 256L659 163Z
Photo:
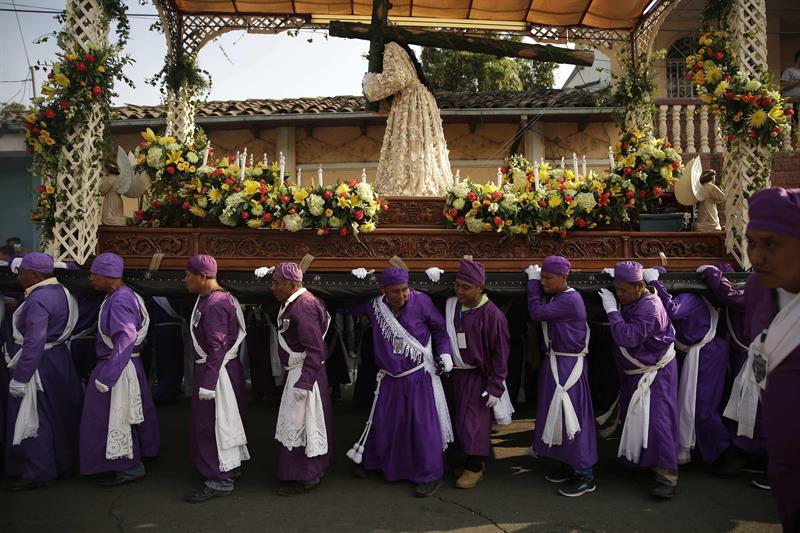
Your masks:
M758 78L767 64L767 14L765 0L736 0L728 17L728 31L740 70ZM747 200L754 192L770 186L772 153L749 140L735 139L723 152L722 168L726 187L725 244L742 268L747 258Z

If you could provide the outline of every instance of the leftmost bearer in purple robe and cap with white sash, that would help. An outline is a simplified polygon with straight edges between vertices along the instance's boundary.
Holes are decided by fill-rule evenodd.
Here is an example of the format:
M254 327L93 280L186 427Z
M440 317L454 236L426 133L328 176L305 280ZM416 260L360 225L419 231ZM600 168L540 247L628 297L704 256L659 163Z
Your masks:
M11 490L26 490L77 465L83 391L65 344L78 319L77 303L53 277L53 258L27 254L17 279L25 300L14 312L16 352L6 361L6 474L21 478Z

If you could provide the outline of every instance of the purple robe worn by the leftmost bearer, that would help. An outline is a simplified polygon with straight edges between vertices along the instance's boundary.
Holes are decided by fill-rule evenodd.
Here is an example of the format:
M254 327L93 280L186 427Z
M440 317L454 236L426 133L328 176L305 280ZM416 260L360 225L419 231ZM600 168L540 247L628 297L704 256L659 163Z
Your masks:
M27 383L38 370L44 391L37 393L39 435L18 446L12 446L11 441L22 399L8 398L6 473L31 481L49 481L78 463L83 391L67 346L45 349L45 343L55 342L67 324L69 309L63 287L38 287L25 298L24 305L17 320L25 338L22 356L10 377Z

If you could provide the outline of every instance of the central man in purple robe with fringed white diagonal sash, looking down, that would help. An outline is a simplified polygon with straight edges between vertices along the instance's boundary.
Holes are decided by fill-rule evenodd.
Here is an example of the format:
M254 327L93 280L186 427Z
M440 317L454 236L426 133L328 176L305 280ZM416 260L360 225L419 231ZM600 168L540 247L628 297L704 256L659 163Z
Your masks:
M367 426L347 456L358 464L363 457L359 477L382 470L387 481L411 481L417 496L431 496L442 484L444 450L453 441L437 375L453 368L450 339L431 299L409 289L407 271L387 268L380 283L381 296L351 309L354 317L370 319L380 370Z

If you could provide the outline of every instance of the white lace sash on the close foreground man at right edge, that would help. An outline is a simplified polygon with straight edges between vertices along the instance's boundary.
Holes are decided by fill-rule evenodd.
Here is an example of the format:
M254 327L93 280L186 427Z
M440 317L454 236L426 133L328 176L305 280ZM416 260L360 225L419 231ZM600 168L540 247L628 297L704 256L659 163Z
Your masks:
M800 294L783 307L770 325L756 335L747 349L747 361L733 381L731 397L723 415L736 420L736 434L753 438L760 389L767 375L800 345L797 323L800 320Z

